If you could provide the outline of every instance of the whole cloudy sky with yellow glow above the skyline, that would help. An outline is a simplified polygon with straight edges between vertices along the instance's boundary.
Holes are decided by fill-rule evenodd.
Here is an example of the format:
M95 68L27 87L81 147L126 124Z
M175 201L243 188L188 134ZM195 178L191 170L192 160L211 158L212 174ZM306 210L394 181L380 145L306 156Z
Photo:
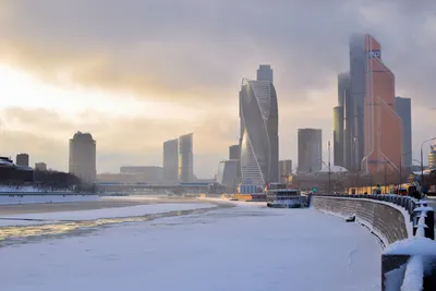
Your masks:
M280 158L296 160L296 130L316 128L327 160L352 33L379 40L412 98L419 159L436 136L434 0L1 0L0 154L68 170L69 140L90 132L97 171L118 172L161 166L164 141L194 132L208 178L238 143L242 78L270 64Z

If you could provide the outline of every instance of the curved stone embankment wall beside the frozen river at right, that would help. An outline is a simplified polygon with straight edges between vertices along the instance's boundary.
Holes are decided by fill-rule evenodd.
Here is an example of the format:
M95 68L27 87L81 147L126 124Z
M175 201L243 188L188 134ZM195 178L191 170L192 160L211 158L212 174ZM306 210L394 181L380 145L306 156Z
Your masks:
M396 205L370 199L313 196L312 207L365 225L385 245L409 238L411 222ZM410 226L409 226L410 225Z

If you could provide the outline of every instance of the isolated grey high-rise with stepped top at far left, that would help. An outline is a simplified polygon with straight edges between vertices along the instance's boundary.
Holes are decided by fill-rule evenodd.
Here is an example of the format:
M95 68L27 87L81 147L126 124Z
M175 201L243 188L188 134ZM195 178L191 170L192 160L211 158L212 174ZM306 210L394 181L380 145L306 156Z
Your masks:
M96 182L96 141L90 133L77 132L70 140L69 171L84 183Z

